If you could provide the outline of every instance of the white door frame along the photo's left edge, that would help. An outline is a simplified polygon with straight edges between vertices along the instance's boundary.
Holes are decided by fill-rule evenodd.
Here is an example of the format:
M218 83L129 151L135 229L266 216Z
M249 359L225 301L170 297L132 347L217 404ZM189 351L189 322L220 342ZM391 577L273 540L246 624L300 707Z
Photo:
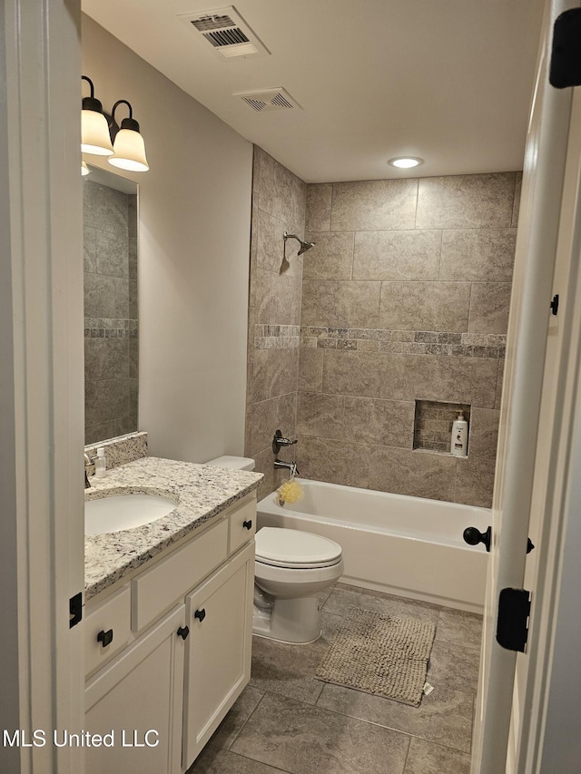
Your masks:
M0 769L77 774L83 750L53 733L84 721L80 2L11 0L0 34L0 712L25 734Z

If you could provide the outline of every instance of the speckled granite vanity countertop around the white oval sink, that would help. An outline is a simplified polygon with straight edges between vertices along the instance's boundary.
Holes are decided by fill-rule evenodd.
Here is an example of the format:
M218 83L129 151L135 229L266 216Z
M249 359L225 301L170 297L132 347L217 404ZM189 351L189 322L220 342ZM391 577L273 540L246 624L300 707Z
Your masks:
M108 470L104 478L90 476L85 500L144 492L169 496L176 507L151 524L84 538L85 602L248 495L261 479L261 473L149 456Z

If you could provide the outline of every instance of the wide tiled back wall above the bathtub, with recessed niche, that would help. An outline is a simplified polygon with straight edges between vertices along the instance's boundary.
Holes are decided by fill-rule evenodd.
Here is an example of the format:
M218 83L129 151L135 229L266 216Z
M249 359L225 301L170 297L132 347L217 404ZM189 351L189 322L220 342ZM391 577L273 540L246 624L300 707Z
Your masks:
M519 187L517 172L307 187L301 475L491 504ZM470 405L467 458L414 449L416 400Z

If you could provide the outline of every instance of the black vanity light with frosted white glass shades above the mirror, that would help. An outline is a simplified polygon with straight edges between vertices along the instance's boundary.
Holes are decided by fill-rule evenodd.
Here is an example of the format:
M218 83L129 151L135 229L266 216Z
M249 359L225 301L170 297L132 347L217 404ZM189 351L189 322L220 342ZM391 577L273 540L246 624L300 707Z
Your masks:
M139 131L139 123L133 118L133 107L127 100L118 100L112 114L103 112L103 105L94 97L94 85L86 75L82 80L91 86L91 96L83 99L81 151L97 156L108 156L107 161L122 170L144 172L149 170L145 157L145 144ZM129 117L123 118L121 128L115 122L115 110L125 104ZM114 142L112 142L114 141ZM82 170L83 174L88 171Z

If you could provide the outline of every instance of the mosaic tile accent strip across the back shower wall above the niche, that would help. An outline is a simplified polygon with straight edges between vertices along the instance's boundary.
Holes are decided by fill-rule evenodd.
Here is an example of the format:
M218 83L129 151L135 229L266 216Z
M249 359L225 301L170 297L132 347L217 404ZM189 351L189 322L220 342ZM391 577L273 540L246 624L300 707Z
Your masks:
M413 355L453 355L465 358L504 358L507 337L497 333L303 326L300 328L300 347L359 349Z

